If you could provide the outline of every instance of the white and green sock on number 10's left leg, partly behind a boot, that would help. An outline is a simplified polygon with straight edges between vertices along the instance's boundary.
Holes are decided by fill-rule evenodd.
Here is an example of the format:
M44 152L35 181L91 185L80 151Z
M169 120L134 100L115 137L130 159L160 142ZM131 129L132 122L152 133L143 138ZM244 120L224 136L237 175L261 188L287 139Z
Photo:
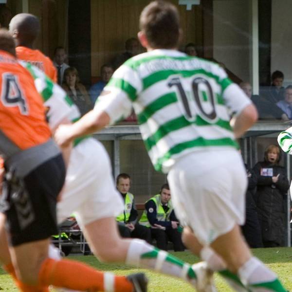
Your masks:
M200 252L202 260L207 262L207 266L213 272L218 272L225 281L237 292L246 292L247 288L241 283L237 274L234 274L227 270L227 266L223 259L215 253L210 247L203 247Z

